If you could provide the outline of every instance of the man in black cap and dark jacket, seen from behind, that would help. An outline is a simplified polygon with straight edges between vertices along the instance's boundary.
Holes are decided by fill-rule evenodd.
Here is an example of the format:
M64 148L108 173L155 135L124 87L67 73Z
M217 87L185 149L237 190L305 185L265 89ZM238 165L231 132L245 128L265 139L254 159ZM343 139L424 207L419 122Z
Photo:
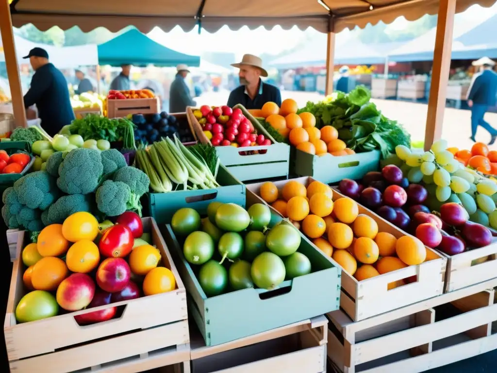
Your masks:
M46 50L33 48L26 58L29 58L35 73L31 87L24 95L24 107L36 104L43 129L54 136L74 120L66 78L48 61Z

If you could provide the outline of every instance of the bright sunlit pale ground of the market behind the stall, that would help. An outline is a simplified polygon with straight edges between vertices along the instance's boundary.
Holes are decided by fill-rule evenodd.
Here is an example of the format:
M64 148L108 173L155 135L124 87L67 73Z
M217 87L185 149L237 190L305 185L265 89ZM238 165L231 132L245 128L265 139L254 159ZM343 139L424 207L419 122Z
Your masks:
M228 101L229 92L208 92L196 98L198 105L224 105ZM293 98L299 107L305 106L307 101L318 101L324 96L312 92L281 91L282 99ZM413 141L424 140L424 129L426 124L427 105L407 101L373 99L378 108L385 116L402 123L411 134ZM494 128L497 128L497 114L487 113L485 119ZM471 112L446 108L443 120L442 137L446 139L450 146L457 146L462 149L471 148L473 142L469 139L471 135ZM476 139L484 143L490 141L490 134L479 127ZM497 149L497 144L494 145Z

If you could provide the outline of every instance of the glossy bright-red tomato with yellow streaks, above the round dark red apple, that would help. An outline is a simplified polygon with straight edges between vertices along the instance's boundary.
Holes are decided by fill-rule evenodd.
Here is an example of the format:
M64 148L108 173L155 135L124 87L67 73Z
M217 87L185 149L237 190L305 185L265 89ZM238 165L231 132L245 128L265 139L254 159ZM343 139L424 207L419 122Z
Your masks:
M131 230L123 224L116 224L102 232L98 249L104 257L124 258L131 253L134 242Z

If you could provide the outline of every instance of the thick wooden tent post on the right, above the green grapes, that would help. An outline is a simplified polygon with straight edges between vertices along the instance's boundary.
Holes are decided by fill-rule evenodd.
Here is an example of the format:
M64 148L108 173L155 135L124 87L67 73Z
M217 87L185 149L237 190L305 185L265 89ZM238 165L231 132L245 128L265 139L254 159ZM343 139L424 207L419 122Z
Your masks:
M442 136L445 98L449 82L452 33L456 0L440 0L435 38L435 52L431 72L430 97L424 133L424 150L429 150L434 141Z

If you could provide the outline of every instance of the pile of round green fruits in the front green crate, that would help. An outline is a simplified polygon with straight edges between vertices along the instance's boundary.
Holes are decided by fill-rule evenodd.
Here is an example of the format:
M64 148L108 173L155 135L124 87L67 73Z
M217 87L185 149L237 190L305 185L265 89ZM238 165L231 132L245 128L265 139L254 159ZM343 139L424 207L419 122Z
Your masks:
M183 255L208 297L249 287L272 290L284 280L311 273L298 251L301 236L288 221L268 229L269 207L247 210L234 203L211 202L207 217L192 208L172 216L172 230Z

